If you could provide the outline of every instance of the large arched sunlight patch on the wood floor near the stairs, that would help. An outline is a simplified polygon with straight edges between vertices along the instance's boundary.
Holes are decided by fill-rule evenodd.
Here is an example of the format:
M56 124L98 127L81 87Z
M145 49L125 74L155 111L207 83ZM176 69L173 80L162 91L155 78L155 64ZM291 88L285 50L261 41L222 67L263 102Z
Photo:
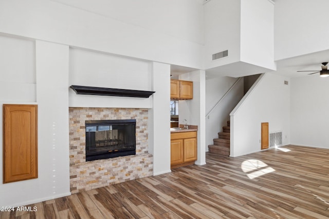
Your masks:
M262 161L250 159L241 164L241 169L250 179L276 171Z

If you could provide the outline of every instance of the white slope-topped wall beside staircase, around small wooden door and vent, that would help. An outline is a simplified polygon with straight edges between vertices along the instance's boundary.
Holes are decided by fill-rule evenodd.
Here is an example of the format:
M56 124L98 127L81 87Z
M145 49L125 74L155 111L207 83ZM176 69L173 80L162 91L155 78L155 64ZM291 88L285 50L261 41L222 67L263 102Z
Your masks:
M290 143L290 85L288 78L262 74L231 112L231 153L236 157L261 150L261 123L269 132L282 131L283 145Z

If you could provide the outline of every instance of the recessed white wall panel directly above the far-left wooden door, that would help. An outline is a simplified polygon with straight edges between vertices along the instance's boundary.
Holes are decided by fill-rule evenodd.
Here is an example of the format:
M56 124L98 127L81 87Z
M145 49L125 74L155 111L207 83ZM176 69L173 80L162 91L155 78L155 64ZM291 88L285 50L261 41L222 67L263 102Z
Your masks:
M0 101L35 102L34 41L0 35Z

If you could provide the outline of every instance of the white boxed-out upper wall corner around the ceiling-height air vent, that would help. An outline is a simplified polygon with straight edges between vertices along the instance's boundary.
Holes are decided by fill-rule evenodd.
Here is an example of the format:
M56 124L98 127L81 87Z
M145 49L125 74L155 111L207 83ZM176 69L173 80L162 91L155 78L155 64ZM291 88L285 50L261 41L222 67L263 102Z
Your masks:
M216 0L204 5L204 62L208 73L241 77L275 70L273 3ZM212 61L212 54L228 56Z

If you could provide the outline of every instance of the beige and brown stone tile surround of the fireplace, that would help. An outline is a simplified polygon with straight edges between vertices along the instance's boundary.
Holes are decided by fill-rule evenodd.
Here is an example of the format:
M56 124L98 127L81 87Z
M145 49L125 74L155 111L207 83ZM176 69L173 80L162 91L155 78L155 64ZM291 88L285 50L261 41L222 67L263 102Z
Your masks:
M86 120L136 120L136 155L85 161ZM148 109L69 108L70 191L77 193L153 174Z

